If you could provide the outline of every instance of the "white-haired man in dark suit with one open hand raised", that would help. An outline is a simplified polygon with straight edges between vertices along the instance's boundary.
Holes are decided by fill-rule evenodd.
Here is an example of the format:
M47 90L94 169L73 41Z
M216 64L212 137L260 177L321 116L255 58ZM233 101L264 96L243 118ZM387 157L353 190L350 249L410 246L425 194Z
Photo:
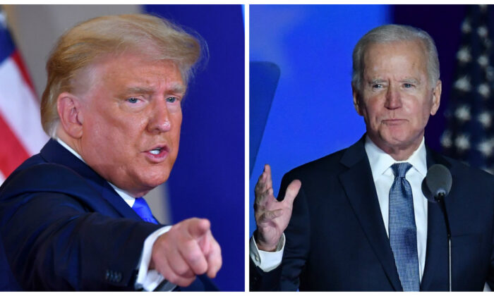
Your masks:
M494 178L425 145L441 95L433 39L404 25L370 30L351 85L366 123L358 142L284 175L279 200L270 166L260 175L251 290L449 290L445 219L421 190L433 164L452 173L452 290L492 285Z

